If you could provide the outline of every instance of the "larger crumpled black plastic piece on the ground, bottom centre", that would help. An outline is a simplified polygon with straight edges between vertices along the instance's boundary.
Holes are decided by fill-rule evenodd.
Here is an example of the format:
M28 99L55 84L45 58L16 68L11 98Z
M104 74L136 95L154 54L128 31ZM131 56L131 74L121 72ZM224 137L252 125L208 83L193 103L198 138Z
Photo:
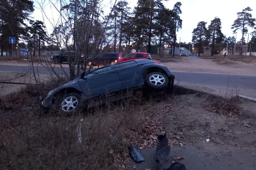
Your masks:
M157 137L159 144L156 149L155 160L157 161L157 170L186 170L184 164L169 161L167 156L170 154L168 138L165 135Z

